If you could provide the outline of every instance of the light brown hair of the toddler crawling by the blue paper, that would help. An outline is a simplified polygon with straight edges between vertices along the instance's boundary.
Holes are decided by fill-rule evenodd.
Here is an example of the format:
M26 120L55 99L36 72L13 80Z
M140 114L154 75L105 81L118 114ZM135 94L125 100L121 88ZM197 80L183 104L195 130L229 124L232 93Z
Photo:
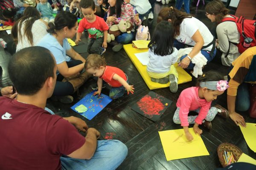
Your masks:
M89 54L84 68L88 70L89 68L98 69L100 66L105 67L107 65L105 58L101 57L99 54Z

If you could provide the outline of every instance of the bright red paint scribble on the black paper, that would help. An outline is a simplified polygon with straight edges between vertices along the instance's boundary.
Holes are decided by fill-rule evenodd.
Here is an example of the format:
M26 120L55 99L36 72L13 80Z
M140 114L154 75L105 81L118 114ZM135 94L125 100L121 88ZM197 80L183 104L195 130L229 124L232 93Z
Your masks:
M140 99L140 101L137 102L137 105L144 114L150 117L153 117L153 115L160 115L159 112L164 109L164 105L159 99L152 98L148 95Z

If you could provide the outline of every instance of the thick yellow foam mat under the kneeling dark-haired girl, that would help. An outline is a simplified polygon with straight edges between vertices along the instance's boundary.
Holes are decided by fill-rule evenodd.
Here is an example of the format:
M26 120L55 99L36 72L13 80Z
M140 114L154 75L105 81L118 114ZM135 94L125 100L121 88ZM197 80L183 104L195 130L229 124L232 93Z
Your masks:
M142 65L139 59L137 59L137 57L134 55L136 53L146 52L148 51L148 48L138 49L138 48L133 48L131 44L126 44L124 45L124 49L125 49L125 52L128 54L128 56L130 57L131 61L134 63L137 70L139 71L140 75L144 79L145 83L148 85L148 88L150 90L169 87L170 82L167 84L152 82L151 78L148 76L148 73L147 73L147 66ZM183 68L179 67L177 63L175 63L175 68L179 73L178 84L190 82L192 80L192 77L185 70L183 70Z

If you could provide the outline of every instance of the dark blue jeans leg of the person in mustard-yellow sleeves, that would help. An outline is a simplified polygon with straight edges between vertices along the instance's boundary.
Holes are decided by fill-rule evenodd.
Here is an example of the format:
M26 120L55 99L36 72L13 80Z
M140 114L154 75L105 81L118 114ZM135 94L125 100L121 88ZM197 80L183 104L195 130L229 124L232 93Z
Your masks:
M243 82L238 86L236 94L236 110L247 111L250 108L249 85Z

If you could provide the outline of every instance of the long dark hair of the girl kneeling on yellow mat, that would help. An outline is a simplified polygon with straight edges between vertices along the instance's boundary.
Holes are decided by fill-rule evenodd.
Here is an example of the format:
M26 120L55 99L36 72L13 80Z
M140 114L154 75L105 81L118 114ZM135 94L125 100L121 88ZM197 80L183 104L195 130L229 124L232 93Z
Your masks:
M173 53L174 27L168 21L161 21L154 29L154 34L148 48L154 54L166 56Z

